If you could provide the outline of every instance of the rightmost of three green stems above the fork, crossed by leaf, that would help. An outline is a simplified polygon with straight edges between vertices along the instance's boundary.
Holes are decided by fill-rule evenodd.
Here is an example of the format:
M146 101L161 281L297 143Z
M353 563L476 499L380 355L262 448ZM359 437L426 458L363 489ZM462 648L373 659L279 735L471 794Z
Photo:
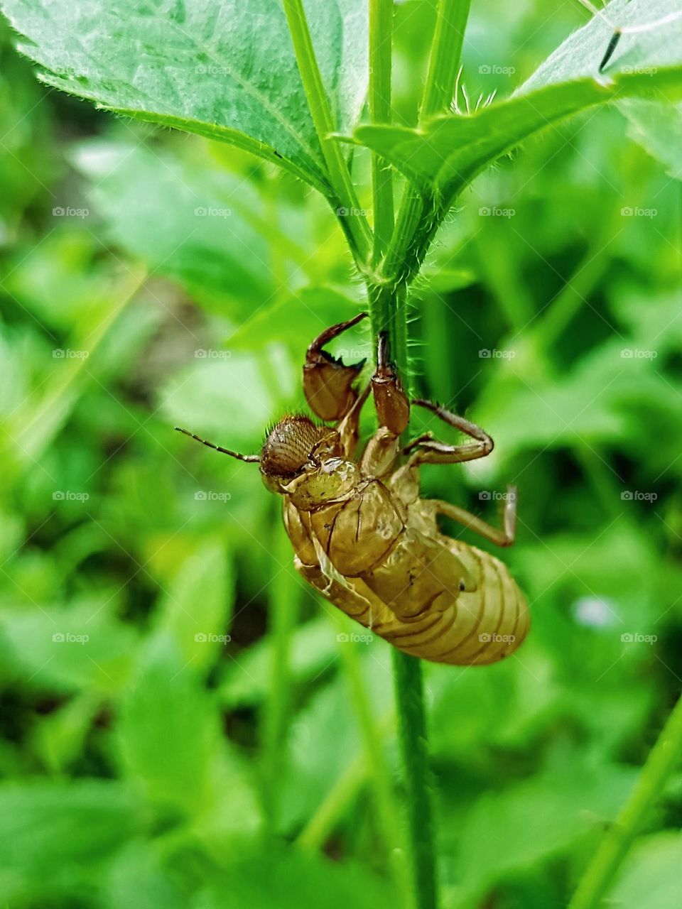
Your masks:
M452 102L470 6L471 0L439 0L419 125L446 111ZM386 254L388 281L406 283L416 275L445 215L446 211L438 211L436 200L426 199L414 186L406 185Z

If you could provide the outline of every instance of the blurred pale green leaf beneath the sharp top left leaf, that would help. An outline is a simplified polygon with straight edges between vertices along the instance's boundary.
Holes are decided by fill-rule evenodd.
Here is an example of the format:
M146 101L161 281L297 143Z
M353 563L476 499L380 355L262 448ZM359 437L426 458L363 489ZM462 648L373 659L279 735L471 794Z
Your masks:
M77 147L75 165L115 245L223 309L253 305L272 294L268 244L254 225L263 203L200 151L183 161L163 147L96 141Z

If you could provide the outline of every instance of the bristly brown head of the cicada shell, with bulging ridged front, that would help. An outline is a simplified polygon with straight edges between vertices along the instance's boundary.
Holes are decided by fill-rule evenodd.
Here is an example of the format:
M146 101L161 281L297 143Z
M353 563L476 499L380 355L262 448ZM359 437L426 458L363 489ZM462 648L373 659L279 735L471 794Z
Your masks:
M289 495L296 508L309 510L350 492L359 482L346 460L336 429L317 426L307 416L286 416L267 434L260 455L263 482Z

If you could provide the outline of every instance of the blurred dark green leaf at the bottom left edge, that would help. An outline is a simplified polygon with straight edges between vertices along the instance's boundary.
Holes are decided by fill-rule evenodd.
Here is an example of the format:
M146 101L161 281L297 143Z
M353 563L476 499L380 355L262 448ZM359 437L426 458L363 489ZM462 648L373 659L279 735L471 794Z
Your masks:
M0 786L0 886L5 900L94 885L98 869L141 827L123 784L45 780ZM45 904L40 900L40 904Z

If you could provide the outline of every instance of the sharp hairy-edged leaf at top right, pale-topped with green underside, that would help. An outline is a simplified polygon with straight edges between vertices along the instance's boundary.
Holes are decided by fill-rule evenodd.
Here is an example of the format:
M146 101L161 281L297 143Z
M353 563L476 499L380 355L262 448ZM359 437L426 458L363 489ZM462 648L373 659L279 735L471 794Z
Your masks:
M647 25L677 13L675 0L615 0L618 25ZM541 65L515 95L471 115L436 117L421 129L361 126L355 139L446 207L473 178L530 135L588 107L632 95L657 100L682 95L682 15L658 28L623 35L598 72L613 29L595 16Z

